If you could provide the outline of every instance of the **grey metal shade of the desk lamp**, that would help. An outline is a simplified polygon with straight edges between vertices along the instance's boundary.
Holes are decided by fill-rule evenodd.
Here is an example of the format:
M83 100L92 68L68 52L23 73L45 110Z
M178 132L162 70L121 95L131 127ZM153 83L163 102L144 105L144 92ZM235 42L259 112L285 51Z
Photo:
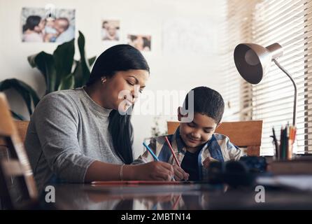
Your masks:
M236 69L248 83L260 83L269 71L272 59L283 55L283 49L278 43L266 48L255 43L240 43L234 50Z

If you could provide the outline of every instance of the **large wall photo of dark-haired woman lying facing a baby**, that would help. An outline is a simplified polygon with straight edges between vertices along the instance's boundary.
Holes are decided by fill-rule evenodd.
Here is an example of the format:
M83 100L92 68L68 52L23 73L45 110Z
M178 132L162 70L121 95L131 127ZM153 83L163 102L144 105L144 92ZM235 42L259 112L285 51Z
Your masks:
M64 43L75 37L75 10L55 9L55 15L45 8L22 8L23 42Z

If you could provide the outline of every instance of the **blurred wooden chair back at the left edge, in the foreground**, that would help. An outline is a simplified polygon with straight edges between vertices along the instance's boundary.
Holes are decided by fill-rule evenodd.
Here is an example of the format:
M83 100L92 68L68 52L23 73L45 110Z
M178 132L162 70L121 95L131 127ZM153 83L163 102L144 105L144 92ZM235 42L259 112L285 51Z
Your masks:
M6 209L36 204L38 192L24 144L10 116L6 96L0 93L0 144L8 147L10 158L0 160L0 197ZM12 188L12 179L14 181ZM15 195L17 194L17 195ZM18 205L16 196L22 198Z

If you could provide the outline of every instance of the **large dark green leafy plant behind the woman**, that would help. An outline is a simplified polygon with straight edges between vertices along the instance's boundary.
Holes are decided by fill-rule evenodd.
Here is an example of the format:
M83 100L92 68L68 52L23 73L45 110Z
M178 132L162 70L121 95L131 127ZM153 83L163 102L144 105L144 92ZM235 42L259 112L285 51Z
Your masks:
M96 57L85 58L85 37L79 31L78 49L80 59L75 60L75 39L58 45L53 54L44 51L36 55L27 57L31 67L39 69L45 79L45 94L57 90L66 90L74 87L81 87L87 83L90 76L90 66L94 63ZM33 106L36 107L40 98L36 91L22 80L9 78L0 82L0 91L14 89L24 100L29 116L33 112ZM33 105L33 106L32 106ZM13 117L24 120L18 113L12 111Z

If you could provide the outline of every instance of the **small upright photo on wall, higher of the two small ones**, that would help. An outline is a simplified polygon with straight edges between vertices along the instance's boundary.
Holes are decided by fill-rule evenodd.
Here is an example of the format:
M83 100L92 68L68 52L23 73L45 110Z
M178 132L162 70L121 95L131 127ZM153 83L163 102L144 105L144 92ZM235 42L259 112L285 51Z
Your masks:
M119 41L120 40L120 21L104 20L101 28L102 41Z

